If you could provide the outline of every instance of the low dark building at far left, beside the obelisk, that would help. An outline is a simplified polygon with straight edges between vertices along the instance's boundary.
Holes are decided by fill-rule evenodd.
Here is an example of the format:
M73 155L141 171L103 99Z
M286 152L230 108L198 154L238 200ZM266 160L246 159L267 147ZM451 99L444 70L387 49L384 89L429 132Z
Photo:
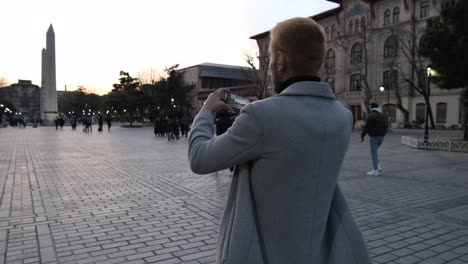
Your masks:
M29 80L18 80L18 83L0 88L0 98L15 107L16 113L29 122L40 118L41 89Z

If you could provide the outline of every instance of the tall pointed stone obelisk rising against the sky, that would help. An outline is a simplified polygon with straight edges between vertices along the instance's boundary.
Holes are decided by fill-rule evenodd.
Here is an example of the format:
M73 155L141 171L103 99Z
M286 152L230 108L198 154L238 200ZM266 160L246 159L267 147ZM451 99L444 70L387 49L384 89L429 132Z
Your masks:
M42 124L52 125L57 117L57 82L55 77L55 33L50 24L46 47L42 49L41 118Z

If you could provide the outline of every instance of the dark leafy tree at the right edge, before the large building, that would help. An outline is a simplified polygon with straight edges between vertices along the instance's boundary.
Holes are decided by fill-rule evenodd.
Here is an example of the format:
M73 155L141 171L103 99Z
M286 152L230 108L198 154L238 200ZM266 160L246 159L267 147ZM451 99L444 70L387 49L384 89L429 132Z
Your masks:
M464 139L468 140L468 1L446 5L440 17L428 22L419 54L429 58L443 89L463 87Z

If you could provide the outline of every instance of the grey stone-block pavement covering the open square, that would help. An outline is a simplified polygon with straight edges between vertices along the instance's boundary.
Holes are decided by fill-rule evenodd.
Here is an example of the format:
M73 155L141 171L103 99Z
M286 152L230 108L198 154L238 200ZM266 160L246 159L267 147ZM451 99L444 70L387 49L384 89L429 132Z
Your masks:
M95 127L95 130L96 127ZM468 263L468 154L353 135L339 184L374 263ZM0 263L214 263L230 177L150 128L0 129Z

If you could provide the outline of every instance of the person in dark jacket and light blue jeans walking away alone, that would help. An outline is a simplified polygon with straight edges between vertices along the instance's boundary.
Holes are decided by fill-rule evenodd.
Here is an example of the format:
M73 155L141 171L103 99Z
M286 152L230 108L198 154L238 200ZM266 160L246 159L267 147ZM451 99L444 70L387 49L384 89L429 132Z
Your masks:
M367 172L367 175L378 176L382 171L382 167L379 163L377 151L388 131L388 120L382 113L382 108L380 108L377 103L371 103L370 108L371 111L366 118L366 124L361 133L361 142L363 142L364 137L369 134L372 170Z

